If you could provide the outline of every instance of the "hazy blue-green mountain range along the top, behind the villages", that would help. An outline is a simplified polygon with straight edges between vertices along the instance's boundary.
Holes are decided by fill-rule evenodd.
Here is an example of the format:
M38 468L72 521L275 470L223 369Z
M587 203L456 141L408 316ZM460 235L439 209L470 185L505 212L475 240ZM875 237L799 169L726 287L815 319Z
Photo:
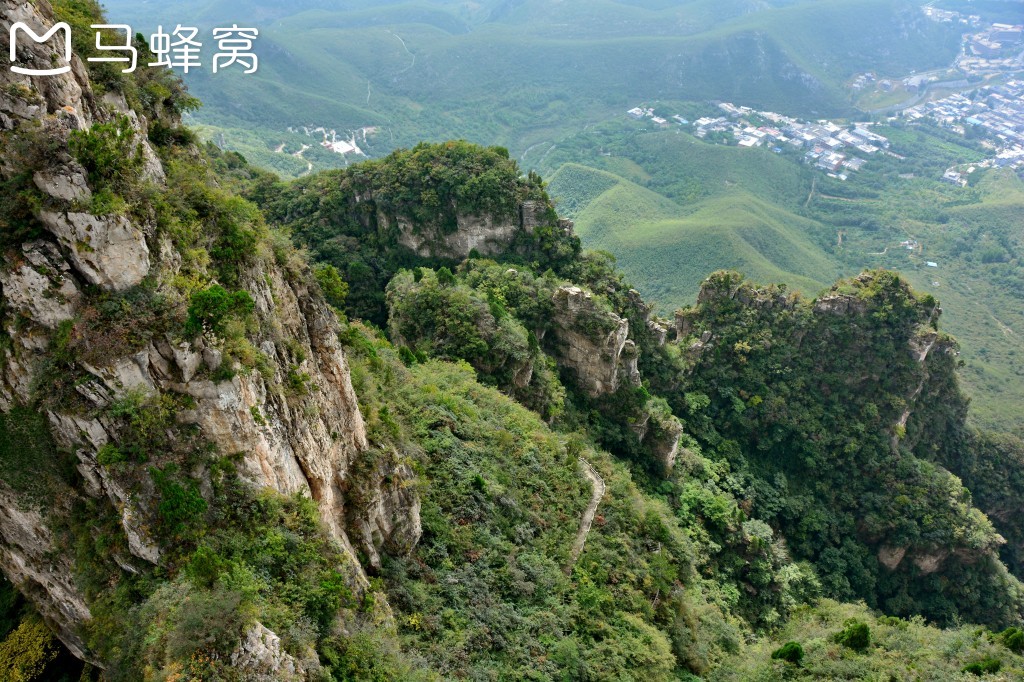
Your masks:
M423 139L508 146L577 132L637 99L731 99L794 114L851 111L845 81L948 65L954 27L902 0L746 2L225 2L106 3L115 20L249 23L261 30L260 71L189 75L197 118L286 175L290 126L379 127L379 156ZM337 155L314 167L344 165ZM530 159L527 157L528 164Z

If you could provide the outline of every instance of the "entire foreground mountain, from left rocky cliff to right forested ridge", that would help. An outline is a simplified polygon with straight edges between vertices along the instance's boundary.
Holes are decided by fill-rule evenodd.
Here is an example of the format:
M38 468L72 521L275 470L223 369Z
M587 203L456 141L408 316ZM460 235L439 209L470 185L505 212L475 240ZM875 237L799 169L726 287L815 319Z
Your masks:
M87 55L0 76L6 677L1024 670L1020 443L934 299L717 273L660 319L503 150L286 184Z

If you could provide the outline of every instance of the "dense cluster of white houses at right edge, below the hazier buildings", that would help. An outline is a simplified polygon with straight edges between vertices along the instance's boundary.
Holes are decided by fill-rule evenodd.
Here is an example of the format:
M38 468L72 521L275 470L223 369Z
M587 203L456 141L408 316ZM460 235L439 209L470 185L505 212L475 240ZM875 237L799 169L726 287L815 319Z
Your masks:
M929 120L961 135L967 134L968 126L982 128L995 155L975 164L976 168L1024 169L1024 80L986 86L972 96L954 94L919 104L903 111L902 117ZM947 170L943 179L967 184L965 173L957 167Z

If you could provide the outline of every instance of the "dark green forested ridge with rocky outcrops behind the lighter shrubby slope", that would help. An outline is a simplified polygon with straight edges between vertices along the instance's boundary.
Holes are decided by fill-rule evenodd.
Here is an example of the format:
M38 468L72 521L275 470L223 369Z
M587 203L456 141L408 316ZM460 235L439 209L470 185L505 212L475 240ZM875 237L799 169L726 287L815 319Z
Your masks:
M480 151L476 158L494 153ZM464 158L453 163L456 154ZM467 154L460 143L420 146L367 170L387 175L381 167L392 166L391 172L401 174L441 164L446 181L459 174L468 181L475 162ZM355 253L337 250L339 240L370 244L383 237L392 245L390 259L414 265L391 280L386 299L392 339L407 346L412 358L466 359L481 380L545 415L557 414L550 401L559 396L558 387L526 370L553 360L568 396L556 420L586 425L599 442L655 476L671 468L667 452L692 453L699 445L706 455L714 453L742 481L748 511L771 521L798 557L814 561L829 594L940 622L957 613L999 624L1019 617L1020 585L999 560L1002 548L1015 563L1017 550L1004 548L1004 537L972 508L970 493L936 466L968 477L984 495L986 483L971 473L975 465L953 463L973 462L970 453L994 446L1009 471L1019 472L1019 441L1005 438L994 445L966 425L966 400L955 378L957 349L938 331L934 297L913 293L884 271L841 283L816 300L721 273L705 283L695 308L680 311L674 322L659 321L601 257L572 255L577 247L564 221L550 222L548 231L543 222L520 225L518 233L512 229L508 248L494 254L498 262L481 259L460 242L463 250L453 249L443 262L470 258L454 274L444 269L434 275L416 266L431 261L403 249L403 238L393 230L394 225L402 225L401 235L422 230L429 241L435 227L412 210L391 213L394 204L382 210L374 190L352 186L367 177L360 167L282 187L280 195L265 185L260 191L275 197L269 206L311 200L291 211L285 224L314 257L349 269ZM310 184L316 189L310 191ZM537 179L523 179L519 186L509 185L510 205L531 187L532 206ZM461 214L465 204L440 197L452 211L450 228L464 238L475 233L466 227L473 222L468 217L457 219L475 208L469 205ZM346 202L359 204L370 218L333 222L335 207ZM537 251L522 244L536 244L539 235L561 235L566 247L556 253L571 257L537 260ZM581 309L589 335L567 338L566 312L572 311L575 322ZM623 323L626 338L615 342ZM594 359L581 364L588 353L578 351L588 343ZM600 361L605 357L609 361ZM534 382L525 384L525 394L520 377ZM537 401L540 396L543 402ZM658 425L653 438L646 428L651 423ZM677 434L688 445L674 449ZM1014 494L996 497L1008 503ZM1001 511L1000 516L1006 536L1016 537L1016 521Z

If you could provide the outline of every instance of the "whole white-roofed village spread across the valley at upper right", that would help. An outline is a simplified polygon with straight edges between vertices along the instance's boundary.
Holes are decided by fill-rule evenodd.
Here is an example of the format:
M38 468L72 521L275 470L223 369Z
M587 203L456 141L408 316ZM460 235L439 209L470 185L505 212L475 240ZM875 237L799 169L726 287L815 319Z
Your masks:
M855 76L855 92L874 90L903 93L902 104L874 111L876 118L890 124L931 124L958 135L981 140L991 157L977 163L953 166L942 179L967 186L968 177L984 168L1012 168L1024 172L1024 26L985 25L977 15L925 5L925 15L935 22L967 28L961 54L951 68L903 79L883 79L874 73ZM942 90L944 88L944 90ZM952 91L951 94L945 94ZM897 94L898 94L897 93ZM932 98L935 97L935 98ZM803 121L756 111L731 102L715 102L719 116L688 121L680 115L641 105L628 114L660 128L682 127L694 136L718 143L745 147L765 146L782 154L799 151L806 163L830 177L846 180L874 154L890 151L889 140L872 130L871 123L840 124L834 121ZM883 115L883 116L879 116Z

